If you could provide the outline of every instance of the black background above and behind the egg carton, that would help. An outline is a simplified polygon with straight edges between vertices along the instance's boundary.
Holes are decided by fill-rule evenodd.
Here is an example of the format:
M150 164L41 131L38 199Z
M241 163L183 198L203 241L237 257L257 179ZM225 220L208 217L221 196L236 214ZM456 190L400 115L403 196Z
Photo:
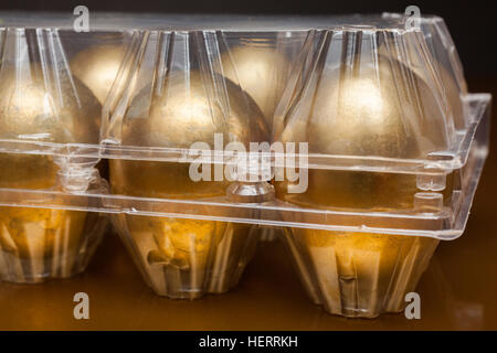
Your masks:
M338 14L403 12L415 4L422 13L447 23L466 76L497 76L497 1L420 0L2 0L0 10L67 11L84 4L89 11L168 13Z

